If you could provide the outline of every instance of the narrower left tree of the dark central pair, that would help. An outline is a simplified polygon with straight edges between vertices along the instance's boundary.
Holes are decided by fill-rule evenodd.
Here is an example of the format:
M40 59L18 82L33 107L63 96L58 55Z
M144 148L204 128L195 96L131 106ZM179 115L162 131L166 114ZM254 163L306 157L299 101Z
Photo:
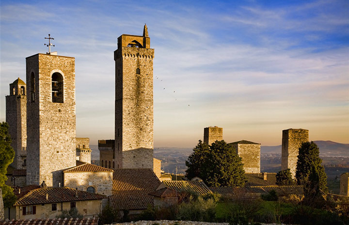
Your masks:
M206 157L209 152L209 146L199 140L199 143L193 148L193 153L188 157L186 161L186 177L192 179L194 177L201 177L202 166L206 161Z

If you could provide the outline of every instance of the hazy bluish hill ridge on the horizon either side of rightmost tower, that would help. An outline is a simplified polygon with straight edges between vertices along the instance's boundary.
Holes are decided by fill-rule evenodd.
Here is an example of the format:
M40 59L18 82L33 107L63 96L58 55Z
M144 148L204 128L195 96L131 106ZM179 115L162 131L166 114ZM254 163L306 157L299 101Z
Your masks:
M332 141L314 141L320 150L321 156L349 157L349 144L341 144ZM279 153L281 145L261 146L261 154Z

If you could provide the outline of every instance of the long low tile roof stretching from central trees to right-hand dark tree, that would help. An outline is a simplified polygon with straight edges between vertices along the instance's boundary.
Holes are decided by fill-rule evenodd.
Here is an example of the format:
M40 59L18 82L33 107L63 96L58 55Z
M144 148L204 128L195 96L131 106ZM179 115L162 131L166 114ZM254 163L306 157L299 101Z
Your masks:
M222 195L226 194L239 194L239 193L259 193L266 194L274 190L279 196L288 196L288 195L302 195L303 187L302 186L254 186L254 187L210 187L212 192L220 193Z

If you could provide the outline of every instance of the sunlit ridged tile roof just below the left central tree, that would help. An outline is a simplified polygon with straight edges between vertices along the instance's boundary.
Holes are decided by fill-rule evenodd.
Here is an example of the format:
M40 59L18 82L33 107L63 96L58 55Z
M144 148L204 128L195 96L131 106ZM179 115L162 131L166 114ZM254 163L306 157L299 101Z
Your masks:
M177 192L184 189L184 190L192 190L198 194L212 193L211 190L207 187L207 185L203 181L164 180L161 182L157 190L162 189L164 187L169 187Z

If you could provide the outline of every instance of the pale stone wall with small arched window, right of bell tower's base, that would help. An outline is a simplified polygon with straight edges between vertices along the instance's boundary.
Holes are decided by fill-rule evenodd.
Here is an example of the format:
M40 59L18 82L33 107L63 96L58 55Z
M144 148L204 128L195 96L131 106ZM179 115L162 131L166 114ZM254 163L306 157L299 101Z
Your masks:
M64 173L64 186L85 192L93 187L95 193L109 196L112 194L112 172Z

